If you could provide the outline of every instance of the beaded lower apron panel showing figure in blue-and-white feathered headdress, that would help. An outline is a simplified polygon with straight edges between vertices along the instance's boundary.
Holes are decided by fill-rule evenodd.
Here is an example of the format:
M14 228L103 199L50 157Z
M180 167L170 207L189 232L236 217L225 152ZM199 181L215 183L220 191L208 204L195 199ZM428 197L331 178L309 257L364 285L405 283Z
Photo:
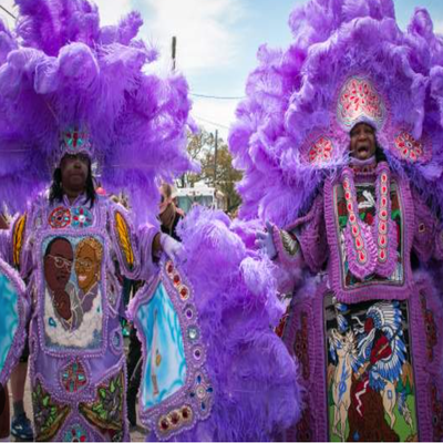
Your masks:
M418 441L408 301L324 297L330 441Z

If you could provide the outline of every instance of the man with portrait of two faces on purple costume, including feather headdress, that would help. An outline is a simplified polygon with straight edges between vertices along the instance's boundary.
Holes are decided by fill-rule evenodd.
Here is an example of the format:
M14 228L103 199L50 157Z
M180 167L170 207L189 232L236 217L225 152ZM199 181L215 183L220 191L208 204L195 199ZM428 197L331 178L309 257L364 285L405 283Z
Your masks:
M137 13L101 28L87 1L17 3L17 34L0 23L0 200L22 215L0 256L29 281L35 437L128 440L116 267L148 280L154 258L181 250L154 225L158 171L192 169L187 85L144 73L156 52L135 39ZM95 193L93 167L130 188L138 228Z

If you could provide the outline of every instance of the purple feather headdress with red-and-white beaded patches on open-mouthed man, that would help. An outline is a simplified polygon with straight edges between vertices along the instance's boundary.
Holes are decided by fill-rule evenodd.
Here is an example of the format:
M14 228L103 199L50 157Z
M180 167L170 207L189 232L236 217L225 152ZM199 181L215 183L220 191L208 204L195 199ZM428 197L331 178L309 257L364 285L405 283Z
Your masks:
M229 134L244 219L291 223L369 122L391 167L443 207L443 39L425 9L402 32L392 0L311 0L286 51L261 47Z

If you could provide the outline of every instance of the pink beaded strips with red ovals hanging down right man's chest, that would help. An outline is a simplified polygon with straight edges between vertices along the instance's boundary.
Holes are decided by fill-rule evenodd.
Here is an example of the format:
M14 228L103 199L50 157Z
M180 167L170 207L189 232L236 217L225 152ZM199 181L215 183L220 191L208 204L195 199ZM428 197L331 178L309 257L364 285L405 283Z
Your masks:
M348 223L344 228L344 244L349 270L364 279L372 274L390 277L396 264L396 230L391 219L390 184L391 173L385 162L375 169L375 219L367 225L359 216L354 171L344 167L341 173Z

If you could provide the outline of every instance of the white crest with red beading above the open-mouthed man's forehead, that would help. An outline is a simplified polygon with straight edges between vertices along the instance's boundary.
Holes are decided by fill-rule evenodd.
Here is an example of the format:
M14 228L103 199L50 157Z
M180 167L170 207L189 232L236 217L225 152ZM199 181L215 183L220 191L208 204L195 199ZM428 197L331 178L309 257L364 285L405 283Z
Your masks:
M352 76L340 91L337 117L347 130L364 117L380 127L385 119L384 103L369 80Z

